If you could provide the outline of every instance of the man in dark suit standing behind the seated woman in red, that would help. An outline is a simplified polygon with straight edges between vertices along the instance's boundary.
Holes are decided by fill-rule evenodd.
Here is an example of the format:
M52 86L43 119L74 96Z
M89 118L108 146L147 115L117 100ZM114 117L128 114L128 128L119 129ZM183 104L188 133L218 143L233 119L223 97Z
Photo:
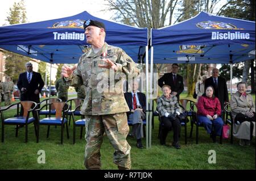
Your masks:
M224 111L224 103L229 102L228 87L226 86L226 79L218 76L219 70L214 68L212 70L212 77L205 80L204 90L208 86L212 86L214 89L214 95L220 100L221 110Z

